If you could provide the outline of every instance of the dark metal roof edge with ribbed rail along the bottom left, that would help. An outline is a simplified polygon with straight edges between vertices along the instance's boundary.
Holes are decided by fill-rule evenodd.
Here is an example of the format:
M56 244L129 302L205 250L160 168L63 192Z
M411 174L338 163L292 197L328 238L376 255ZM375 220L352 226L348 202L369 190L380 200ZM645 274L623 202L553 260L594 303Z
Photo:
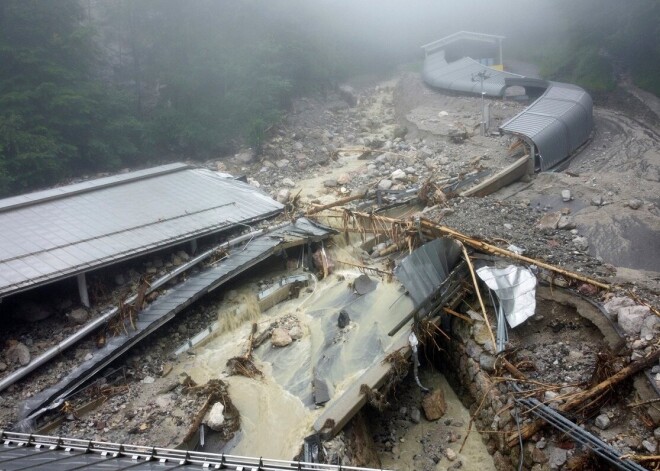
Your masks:
M139 466L139 463L185 467L189 469L226 469L234 471L386 471L375 468L356 468L352 466L337 466L330 464L306 463L302 461L274 460L235 456L218 453L204 453L187 450L174 450L170 448L156 448L149 446L125 445L120 443L98 442L77 438L52 437L47 435L34 435L26 433L0 431L0 468L4 463L11 462L12 467L21 469L30 466L45 466L44 454L50 452L53 470L98 469L99 461L112 461L121 470ZM7 449L11 450L7 450ZM7 456L6 451L24 451L24 456ZM71 463L67 467L66 459L62 455L84 456L92 454L99 461L89 463L89 466L80 467L80 463ZM13 469L13 468L11 468Z

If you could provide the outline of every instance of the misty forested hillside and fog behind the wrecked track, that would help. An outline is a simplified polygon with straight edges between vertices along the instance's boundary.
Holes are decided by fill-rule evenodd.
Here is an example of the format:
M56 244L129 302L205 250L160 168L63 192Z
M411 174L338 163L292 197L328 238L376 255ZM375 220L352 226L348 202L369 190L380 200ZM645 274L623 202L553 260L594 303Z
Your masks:
M550 79L660 94L657 0L3 0L0 195L258 149L294 97L459 30Z

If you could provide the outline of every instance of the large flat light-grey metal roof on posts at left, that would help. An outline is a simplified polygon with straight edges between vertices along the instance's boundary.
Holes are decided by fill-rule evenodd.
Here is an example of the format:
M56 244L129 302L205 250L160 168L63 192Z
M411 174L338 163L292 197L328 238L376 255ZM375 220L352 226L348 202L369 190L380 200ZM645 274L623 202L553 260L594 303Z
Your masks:
M173 164L0 201L0 296L275 215L240 181Z

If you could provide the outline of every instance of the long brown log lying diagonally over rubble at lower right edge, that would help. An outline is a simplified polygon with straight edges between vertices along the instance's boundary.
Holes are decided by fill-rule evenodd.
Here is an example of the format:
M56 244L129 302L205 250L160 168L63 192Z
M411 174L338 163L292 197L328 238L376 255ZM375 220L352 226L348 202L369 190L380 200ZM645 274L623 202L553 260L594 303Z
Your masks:
M573 395L568 401L566 401L564 404L559 406L558 408L559 412L571 412L579 408L587 401L600 396L615 384L620 383L621 381L631 377L635 373L638 373L644 368L652 365L653 363L658 361L658 358L660 358L660 349L654 350L645 357L632 362L631 364L619 370L617 373L613 374L606 380L601 381L596 386L587 389L586 391L582 391L580 393ZM515 446L515 444L518 443L519 436L521 436L523 440L529 439L532 435L534 435L536 432L541 430L543 425L544 422L541 420L537 420L535 422L525 425L520 430L520 435L518 433L515 433L509 436L508 438L509 445Z

